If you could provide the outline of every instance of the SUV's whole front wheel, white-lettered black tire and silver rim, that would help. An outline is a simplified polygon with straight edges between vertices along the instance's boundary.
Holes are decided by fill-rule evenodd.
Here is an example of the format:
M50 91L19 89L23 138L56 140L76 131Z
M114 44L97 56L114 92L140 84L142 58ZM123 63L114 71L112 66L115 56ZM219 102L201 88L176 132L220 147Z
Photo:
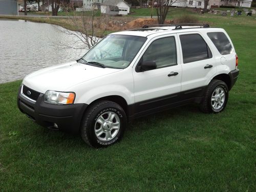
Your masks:
M126 114L119 104L98 101L89 106L83 116L81 136L93 147L109 146L122 138L126 124Z

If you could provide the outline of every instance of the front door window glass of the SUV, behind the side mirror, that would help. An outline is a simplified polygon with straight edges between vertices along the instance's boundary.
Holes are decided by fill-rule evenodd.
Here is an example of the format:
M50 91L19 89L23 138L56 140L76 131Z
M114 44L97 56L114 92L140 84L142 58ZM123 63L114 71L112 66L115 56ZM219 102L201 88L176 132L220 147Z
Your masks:
M177 65L175 37L164 37L153 41L142 60L155 61L157 69Z

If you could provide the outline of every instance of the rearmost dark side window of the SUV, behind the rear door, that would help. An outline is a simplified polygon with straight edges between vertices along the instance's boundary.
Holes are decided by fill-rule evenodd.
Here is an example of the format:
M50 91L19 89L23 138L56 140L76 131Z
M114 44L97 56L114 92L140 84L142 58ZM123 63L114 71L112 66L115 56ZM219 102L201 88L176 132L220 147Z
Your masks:
M227 55L232 53L232 46L223 32L210 32L207 33L210 40L214 43L220 54Z

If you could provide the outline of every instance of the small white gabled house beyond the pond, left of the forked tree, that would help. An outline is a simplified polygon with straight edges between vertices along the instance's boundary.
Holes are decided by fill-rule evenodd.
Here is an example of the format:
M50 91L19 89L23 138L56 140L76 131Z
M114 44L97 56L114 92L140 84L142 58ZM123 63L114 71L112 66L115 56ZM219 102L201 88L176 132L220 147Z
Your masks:
M130 13L131 6L121 0L104 0L100 6L100 12L105 14L127 15Z

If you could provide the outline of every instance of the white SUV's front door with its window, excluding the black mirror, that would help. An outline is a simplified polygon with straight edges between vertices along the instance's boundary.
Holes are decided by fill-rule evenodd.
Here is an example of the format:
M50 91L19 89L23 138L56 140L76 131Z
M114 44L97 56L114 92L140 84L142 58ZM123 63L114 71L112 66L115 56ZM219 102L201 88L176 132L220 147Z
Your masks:
M182 69L177 36L152 39L133 69L135 113L158 110L175 102L181 91ZM155 61L157 68L138 71L142 61Z

